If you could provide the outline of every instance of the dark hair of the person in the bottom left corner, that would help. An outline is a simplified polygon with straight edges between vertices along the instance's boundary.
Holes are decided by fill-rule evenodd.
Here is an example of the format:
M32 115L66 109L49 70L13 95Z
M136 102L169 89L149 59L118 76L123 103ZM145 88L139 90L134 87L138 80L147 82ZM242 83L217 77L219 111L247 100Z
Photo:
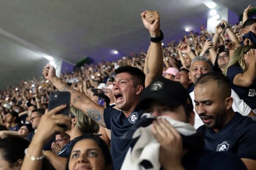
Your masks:
M24 158L24 150L28 148L30 142L22 137L11 136L0 140L0 152L4 160L9 163L16 163Z

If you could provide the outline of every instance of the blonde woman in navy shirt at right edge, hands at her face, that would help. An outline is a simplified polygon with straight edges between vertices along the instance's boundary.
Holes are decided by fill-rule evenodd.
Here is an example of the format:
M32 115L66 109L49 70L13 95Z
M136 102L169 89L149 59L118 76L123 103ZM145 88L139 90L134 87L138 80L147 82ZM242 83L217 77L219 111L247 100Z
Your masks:
M256 49L253 46L242 46L235 50L225 70L231 88L248 104L256 109Z

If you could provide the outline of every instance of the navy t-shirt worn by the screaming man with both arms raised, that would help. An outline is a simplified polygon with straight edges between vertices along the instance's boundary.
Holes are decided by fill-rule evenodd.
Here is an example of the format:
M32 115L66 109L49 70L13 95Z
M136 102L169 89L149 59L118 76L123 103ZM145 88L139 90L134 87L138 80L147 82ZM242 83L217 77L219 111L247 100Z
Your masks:
M141 117L142 111L132 111L130 116L125 117L120 110L113 108L104 109L104 121L107 129L111 129L111 156L114 170L121 169L125 155L129 149L131 139L123 140L124 133Z

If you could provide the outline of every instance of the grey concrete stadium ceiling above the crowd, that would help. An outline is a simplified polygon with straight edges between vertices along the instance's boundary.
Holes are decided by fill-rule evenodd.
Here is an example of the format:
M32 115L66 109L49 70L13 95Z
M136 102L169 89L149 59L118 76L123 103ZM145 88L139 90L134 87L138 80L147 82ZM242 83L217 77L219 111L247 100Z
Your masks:
M238 14L253 2L215 1ZM160 12L164 43L181 38L186 26L192 30L206 26L209 11L201 0L0 2L0 89L41 76L49 62L44 54L76 63L85 56L100 62L146 51L149 34L140 16L145 10Z

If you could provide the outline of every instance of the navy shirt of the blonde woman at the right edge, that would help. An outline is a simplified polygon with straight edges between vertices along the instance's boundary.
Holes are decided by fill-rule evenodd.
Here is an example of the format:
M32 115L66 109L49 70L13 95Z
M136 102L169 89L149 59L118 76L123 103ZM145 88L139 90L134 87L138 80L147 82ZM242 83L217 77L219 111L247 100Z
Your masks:
M249 87L234 85L234 77L240 73L243 73L243 70L239 65L230 66L228 68L227 77L230 80L231 88L246 104L248 104L248 106L250 106L252 109L256 109L256 79Z

